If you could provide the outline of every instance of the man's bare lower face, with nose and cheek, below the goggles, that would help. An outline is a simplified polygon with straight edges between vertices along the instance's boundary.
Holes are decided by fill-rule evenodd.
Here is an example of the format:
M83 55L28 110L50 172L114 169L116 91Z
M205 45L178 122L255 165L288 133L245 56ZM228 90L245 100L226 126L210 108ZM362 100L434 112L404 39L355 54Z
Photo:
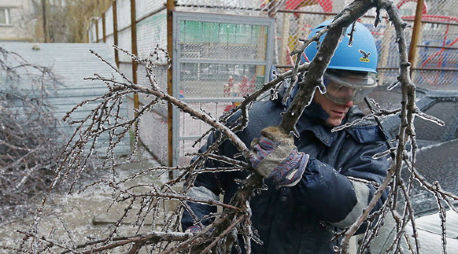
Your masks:
M344 105L339 105L328 98L326 98L320 91L315 91L313 97L314 102L321 105L321 107L329 114L326 123L332 126L338 126L344 120L348 110L353 106L353 101L349 101Z

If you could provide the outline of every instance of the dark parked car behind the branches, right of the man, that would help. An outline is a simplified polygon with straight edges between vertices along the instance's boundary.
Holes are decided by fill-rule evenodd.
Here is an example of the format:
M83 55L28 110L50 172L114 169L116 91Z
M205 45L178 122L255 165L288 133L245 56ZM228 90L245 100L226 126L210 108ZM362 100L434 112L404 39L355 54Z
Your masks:
M399 89L389 92L400 97ZM445 124L440 126L420 117L415 118L414 126L418 144L415 167L429 182L438 180L444 189L458 193L458 181L456 179L458 176L456 173L458 168L458 156L456 156L458 148L458 91L417 89L417 94L416 105L418 108L428 115L443 120ZM387 98L387 96L383 96L383 98ZM399 116L394 115L381 120L385 133L390 139L394 139L399 131ZM421 193L417 193L420 190ZM424 193L420 186L414 188L412 201L417 215L430 213L436 207L434 205L435 198L432 194Z

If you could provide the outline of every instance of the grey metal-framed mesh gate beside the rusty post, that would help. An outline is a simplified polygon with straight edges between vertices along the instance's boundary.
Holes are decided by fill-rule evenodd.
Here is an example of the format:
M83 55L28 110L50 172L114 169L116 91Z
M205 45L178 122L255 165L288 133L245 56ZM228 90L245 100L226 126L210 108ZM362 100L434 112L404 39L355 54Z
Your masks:
M173 19L173 96L217 118L268 81L273 18L174 12ZM172 119L173 165L186 165L210 126L176 108Z

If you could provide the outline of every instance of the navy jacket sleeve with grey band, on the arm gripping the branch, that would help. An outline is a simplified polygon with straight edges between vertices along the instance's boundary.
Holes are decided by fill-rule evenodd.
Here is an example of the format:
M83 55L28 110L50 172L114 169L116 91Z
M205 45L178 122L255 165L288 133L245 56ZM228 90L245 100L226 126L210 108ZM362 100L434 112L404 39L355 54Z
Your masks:
M310 158L301 181L292 187L295 202L339 228L352 225L370 202L376 188L349 180L346 176L381 183L386 176L386 158L373 155L386 150L383 142L361 144L340 171L316 158ZM386 193L373 211L380 209Z

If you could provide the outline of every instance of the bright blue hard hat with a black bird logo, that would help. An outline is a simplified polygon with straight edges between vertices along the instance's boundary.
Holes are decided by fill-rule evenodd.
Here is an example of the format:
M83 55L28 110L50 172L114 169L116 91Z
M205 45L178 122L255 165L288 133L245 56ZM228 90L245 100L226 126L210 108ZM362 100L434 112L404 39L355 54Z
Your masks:
M325 28L332 20L326 20L313 28L308 38ZM353 44L350 41L352 25L347 28L346 35L337 46L328 69L377 73L377 48L374 37L364 25L356 22L353 32ZM323 41L325 35L320 40ZM301 55L301 64L309 62L317 54L317 42L312 42Z

